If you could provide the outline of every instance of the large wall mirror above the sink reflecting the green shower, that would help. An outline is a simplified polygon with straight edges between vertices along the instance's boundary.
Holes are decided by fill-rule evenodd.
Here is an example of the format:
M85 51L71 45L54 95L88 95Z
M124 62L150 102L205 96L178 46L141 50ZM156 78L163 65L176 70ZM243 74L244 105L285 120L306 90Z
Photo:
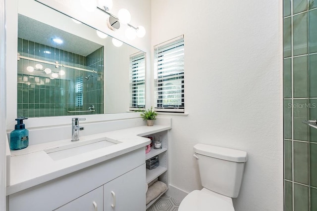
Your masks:
M116 47L103 32L27 1L18 1L18 117L145 107L145 52L126 43Z

